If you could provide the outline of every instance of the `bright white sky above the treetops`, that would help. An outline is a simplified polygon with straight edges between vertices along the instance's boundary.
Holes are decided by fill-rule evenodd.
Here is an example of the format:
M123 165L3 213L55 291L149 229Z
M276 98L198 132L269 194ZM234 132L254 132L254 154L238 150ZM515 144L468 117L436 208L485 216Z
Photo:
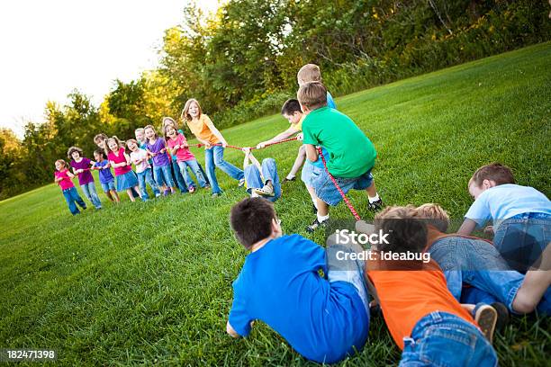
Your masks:
M164 31L182 21L188 1L1 1L0 126L23 137L26 121L44 121L46 102L64 104L74 88L99 105L114 79L158 65Z

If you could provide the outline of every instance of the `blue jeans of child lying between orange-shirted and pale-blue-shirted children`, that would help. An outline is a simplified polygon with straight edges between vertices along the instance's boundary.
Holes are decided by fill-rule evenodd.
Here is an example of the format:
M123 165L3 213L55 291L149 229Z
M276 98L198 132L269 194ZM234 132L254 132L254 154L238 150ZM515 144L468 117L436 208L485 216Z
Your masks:
M444 272L447 289L456 300L461 300L463 284L466 283L489 293L513 311L512 301L524 275L510 270L490 243L469 237L444 237L430 246L429 253ZM543 304L542 307L548 306Z

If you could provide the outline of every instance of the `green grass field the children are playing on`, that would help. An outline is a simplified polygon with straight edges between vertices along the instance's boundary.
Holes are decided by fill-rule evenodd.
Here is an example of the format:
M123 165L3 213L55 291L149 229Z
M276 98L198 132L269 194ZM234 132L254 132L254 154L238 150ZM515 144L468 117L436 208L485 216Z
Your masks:
M386 204L438 202L459 219L471 203L469 177L496 160L520 184L551 194L551 43L336 102L375 143L375 183ZM230 144L253 146L287 126L274 115L222 133ZM276 145L257 157L276 158L283 178L298 147ZM242 157L226 151L237 166ZM75 218L54 184L1 201L0 348L55 348L64 365L310 364L260 322L247 339L225 333L231 282L246 255L228 213L246 194L218 177L225 191L218 199L199 191L145 203L123 197L113 206L101 193L104 210ZM373 218L363 192L350 199ZM276 210L286 233L308 237L313 216L302 183L285 184ZM343 204L331 217L351 219ZM323 233L312 239L322 243ZM548 318L515 318L495 338L501 365L548 365L550 329ZM383 320L373 318L366 346L341 364L399 358Z

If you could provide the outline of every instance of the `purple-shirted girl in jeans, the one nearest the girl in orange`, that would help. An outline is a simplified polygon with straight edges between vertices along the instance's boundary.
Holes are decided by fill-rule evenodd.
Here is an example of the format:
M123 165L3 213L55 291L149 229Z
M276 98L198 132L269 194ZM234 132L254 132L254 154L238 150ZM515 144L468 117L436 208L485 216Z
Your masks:
M155 128L148 125L144 128L146 139L146 148L151 157L153 157L153 173L159 188L163 189L163 194L176 192L175 184L170 172L170 158L167 155L167 145L165 139L158 138ZM170 188L168 191L167 186Z

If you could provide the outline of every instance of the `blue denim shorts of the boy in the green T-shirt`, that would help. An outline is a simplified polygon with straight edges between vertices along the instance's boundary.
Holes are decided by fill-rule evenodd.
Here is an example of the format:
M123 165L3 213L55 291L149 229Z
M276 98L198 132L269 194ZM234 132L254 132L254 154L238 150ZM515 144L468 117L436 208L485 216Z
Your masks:
M351 189L354 190L366 190L371 186L373 182L373 175L371 175L371 169L364 175L355 178L342 178L334 177L335 181L339 183L339 187L345 194ZM335 184L331 181L329 174L325 168L320 171L312 171L312 187L316 196L329 205L337 205L341 200L339 190L335 187Z

